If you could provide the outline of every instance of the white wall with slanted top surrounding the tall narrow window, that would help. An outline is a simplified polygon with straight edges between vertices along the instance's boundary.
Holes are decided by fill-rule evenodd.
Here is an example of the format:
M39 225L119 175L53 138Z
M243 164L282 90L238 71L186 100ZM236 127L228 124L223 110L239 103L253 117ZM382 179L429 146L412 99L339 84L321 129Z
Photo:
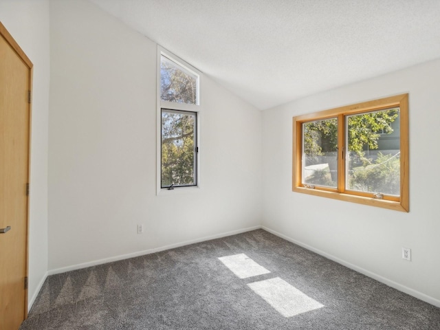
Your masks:
M202 188L158 197L157 45L88 1L50 18L51 272L261 223L260 111L204 77Z

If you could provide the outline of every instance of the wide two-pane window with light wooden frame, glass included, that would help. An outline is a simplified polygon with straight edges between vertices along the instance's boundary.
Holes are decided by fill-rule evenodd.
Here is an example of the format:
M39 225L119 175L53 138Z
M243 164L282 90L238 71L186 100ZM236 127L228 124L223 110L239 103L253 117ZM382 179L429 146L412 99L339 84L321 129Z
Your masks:
M293 121L295 192L409 212L408 94Z

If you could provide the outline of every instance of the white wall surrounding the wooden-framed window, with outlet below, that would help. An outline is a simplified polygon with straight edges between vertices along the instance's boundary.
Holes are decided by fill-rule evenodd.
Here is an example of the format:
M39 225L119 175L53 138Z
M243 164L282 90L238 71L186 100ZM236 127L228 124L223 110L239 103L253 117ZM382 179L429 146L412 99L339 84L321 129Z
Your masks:
M437 60L264 111L263 225L440 307L439 76ZM294 115L407 92L409 213L292 192Z

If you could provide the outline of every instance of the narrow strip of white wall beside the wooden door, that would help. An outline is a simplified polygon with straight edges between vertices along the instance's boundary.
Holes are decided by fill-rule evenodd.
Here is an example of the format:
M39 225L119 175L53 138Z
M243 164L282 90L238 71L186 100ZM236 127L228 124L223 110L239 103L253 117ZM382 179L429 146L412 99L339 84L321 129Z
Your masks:
M0 21L34 64L28 290L31 307L47 272L49 1L1 0Z

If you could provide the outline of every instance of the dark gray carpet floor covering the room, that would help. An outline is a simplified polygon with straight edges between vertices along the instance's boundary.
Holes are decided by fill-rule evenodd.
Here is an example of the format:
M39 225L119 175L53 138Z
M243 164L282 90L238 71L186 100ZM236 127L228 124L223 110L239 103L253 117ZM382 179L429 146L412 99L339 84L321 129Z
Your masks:
M267 272L237 276L219 259L237 254ZM274 299L252 289L274 278ZM286 317L280 302L319 308ZM439 330L440 309L255 230L49 276L20 329Z

